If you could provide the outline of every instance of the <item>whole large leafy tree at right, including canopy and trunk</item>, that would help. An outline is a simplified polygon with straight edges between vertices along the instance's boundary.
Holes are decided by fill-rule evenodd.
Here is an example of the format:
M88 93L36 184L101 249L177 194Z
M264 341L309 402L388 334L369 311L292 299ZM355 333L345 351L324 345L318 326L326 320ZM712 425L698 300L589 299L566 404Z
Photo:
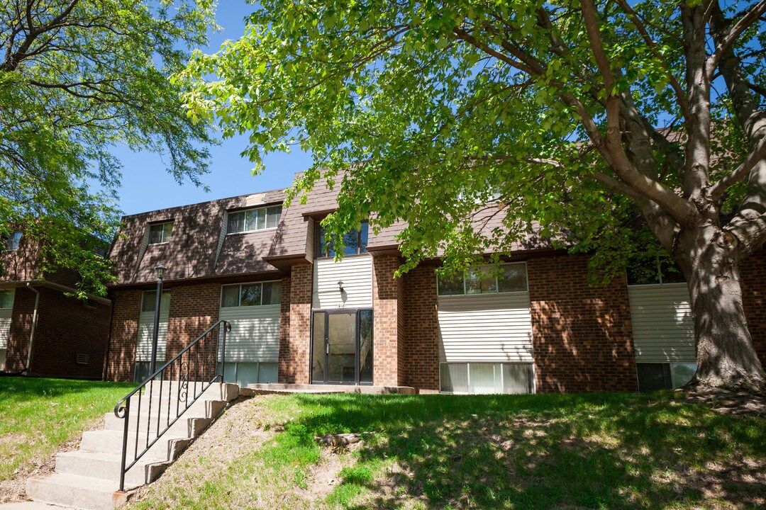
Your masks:
M266 1L179 81L193 119L250 133L257 168L311 151L296 193L345 171L330 230L406 221L405 269L439 249L455 265L509 250L539 222L614 273L648 233L689 282L697 381L763 388L738 268L766 239L764 12ZM471 216L494 198L504 226L481 234Z

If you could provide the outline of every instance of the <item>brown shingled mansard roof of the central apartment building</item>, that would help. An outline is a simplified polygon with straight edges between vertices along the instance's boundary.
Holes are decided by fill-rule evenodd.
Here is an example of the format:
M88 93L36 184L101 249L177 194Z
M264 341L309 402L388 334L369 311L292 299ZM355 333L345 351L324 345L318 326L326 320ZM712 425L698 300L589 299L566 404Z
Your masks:
M190 278L222 278L237 275L269 273L286 270L294 261L313 258L314 226L316 221L336 210L342 176L336 177L332 190L322 178L307 194L305 204L295 200L283 209L277 229L226 234L224 213L281 203L283 190L256 193L222 200L211 200L188 206L135 214L123 218L123 229L110 252L116 263L117 284L149 284L156 281L155 266L167 268L166 281ZM476 211L473 218L481 231L489 234L502 226L506 211L489 204ZM169 242L148 245L151 223L173 221ZM370 252L393 252L398 249L396 236L406 223L398 222L375 235L370 232ZM514 243L512 249L530 250L550 247L534 232Z

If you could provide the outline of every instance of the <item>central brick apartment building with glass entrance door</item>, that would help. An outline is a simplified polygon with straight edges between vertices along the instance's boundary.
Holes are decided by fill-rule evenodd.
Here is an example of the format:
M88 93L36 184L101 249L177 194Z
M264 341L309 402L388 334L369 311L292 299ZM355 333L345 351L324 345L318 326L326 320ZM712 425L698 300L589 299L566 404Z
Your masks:
M635 391L693 374L686 284L659 264L640 281L590 287L587 256L528 239L500 274L481 268L444 281L433 261L394 278L395 228L349 232L344 258L333 260L319 221L336 193L319 183L306 204L284 210L276 190L126 216L110 253L119 281L107 378L148 373L159 263L159 360L229 320L225 375L241 384ZM751 258L743 274L764 359L766 259Z

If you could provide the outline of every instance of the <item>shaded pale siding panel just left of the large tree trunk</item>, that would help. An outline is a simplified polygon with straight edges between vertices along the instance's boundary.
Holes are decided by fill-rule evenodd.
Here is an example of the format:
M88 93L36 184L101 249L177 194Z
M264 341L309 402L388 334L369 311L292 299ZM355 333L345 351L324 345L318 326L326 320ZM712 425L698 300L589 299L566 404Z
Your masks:
M696 362L685 283L630 285L628 297L636 362Z

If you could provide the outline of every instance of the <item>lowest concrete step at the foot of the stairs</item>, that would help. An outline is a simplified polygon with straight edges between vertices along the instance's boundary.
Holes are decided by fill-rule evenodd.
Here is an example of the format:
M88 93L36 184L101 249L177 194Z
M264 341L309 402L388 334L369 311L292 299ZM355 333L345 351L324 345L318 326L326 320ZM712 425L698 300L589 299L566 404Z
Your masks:
M117 492L118 482L90 476L54 473L27 480L27 496L34 501L80 510L112 510L127 501L127 492Z

